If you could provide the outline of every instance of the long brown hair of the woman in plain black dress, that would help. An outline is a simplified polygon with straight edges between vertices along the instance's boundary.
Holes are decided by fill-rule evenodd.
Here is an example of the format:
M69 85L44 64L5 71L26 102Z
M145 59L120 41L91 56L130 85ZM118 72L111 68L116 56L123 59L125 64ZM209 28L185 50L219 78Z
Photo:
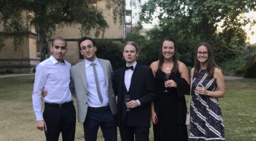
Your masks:
M176 45L176 41L173 38L170 38L170 37L164 38L164 40L162 42L162 46L161 46L161 50L160 50L160 54L159 54L159 65L158 65L158 67L161 70L163 70L164 56L163 56L162 51L163 51L164 41L172 41L174 43L174 54L173 54L173 57L172 57L173 68L172 68L170 73L172 73L172 72L177 73L177 70L179 68L178 59L177 59L177 45Z

